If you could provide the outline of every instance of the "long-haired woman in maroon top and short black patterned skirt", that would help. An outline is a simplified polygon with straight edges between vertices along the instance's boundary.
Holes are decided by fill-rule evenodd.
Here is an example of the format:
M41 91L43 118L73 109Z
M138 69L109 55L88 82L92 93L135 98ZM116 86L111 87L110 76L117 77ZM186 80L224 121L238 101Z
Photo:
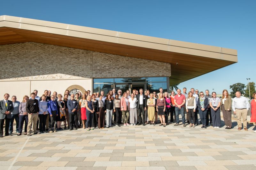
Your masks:
M166 126L165 123L165 107L166 107L166 102L163 93L160 93L157 99L157 112L158 116L160 118L161 124L159 126L164 125Z

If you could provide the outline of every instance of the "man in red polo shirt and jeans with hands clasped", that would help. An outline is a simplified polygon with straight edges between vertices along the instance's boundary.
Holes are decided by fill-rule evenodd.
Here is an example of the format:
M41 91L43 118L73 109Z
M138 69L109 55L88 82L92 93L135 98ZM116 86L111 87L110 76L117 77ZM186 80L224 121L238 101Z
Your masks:
M186 102L186 98L184 95L181 94L181 89L177 89L177 93L178 94L174 96L175 114L176 114L175 126L179 125L179 115L181 114L183 127L186 127L185 116L184 116L184 104Z

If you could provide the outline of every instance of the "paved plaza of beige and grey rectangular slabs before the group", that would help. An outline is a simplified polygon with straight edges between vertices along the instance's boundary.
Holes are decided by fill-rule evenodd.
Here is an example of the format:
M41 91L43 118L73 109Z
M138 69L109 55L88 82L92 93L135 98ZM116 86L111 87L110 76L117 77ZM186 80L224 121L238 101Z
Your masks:
M255 127L152 125L63 130L0 139L0 169L256 169Z

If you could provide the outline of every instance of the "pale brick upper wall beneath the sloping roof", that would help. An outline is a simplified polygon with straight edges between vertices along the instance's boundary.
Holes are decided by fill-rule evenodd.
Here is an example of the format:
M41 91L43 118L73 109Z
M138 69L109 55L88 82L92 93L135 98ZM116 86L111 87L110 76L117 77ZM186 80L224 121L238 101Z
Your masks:
M171 75L169 63L33 42L0 46L0 61L0 81Z

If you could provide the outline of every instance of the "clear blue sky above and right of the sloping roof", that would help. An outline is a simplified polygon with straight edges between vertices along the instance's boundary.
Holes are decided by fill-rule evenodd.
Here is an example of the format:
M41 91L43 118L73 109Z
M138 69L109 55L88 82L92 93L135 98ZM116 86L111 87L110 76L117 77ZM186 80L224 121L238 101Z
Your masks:
M238 63L178 87L218 94L237 82L256 82L255 0L3 1L0 15L129 32L236 49ZM198 65L200 67L200 65Z

